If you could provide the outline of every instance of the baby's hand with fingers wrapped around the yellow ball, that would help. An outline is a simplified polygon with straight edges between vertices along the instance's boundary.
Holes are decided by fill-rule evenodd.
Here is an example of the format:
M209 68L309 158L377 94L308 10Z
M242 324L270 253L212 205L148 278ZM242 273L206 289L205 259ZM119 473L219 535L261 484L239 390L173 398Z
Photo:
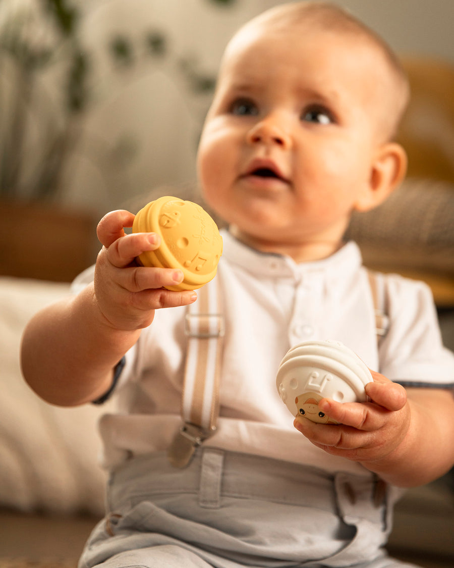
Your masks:
M94 299L107 323L125 331L150 325L157 308L187 306L197 299L191 290L162 288L182 282L181 270L137 264L135 258L157 249L161 240L155 233L126 235L123 227L132 227L133 220L129 211L111 211L97 229L103 248L96 260Z

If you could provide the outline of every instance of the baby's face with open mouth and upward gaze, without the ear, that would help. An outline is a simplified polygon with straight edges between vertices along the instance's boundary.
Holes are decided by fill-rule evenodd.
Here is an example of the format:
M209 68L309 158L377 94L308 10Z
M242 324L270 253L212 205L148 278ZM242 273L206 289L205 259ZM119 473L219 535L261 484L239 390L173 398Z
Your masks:
M327 256L371 179L384 64L348 36L254 30L230 46L201 136L205 198L258 249Z

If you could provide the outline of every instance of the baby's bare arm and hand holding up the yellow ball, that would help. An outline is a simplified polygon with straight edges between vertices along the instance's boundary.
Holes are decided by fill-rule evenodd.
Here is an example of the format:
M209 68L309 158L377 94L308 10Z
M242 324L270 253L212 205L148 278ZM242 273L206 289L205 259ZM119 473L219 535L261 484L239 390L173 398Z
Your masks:
M103 248L94 283L40 311L24 331L24 377L48 402L75 406L102 396L117 362L152 323L154 310L186 306L197 297L162 289L182 281L180 270L137 266L134 258L158 248L160 237L125 235L123 227L131 227L133 219L128 211L113 211L100 221Z

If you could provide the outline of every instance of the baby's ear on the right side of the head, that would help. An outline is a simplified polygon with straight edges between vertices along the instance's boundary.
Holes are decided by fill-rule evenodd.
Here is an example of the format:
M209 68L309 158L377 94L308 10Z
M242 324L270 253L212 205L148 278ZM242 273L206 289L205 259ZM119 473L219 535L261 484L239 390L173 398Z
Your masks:
M382 144L371 164L367 189L355 204L356 211L369 211L384 202L401 183L407 171L407 154L400 144Z

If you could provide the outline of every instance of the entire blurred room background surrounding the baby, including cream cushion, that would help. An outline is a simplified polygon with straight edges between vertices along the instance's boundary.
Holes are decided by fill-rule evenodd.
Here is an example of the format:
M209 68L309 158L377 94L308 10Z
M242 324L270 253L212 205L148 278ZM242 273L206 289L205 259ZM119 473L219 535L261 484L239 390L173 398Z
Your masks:
M409 177L347 236L367 266L431 286L454 349L454 2L335 2L388 41L413 91L398 133ZM28 389L24 325L94 262L107 211L196 196L225 44L279 3L0 0L0 568L75 568L103 515L94 432L106 408L52 407ZM402 499L393 554L452 568L453 486L451 473Z

